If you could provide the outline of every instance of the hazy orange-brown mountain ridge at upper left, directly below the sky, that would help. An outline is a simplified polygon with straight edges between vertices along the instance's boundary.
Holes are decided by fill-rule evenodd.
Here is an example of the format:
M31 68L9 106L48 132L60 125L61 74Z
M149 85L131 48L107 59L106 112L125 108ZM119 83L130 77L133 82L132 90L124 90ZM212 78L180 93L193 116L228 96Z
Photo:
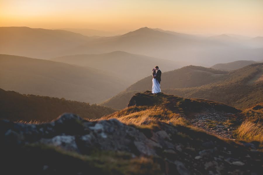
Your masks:
M90 40L89 37L65 30L0 27L0 53L36 58L63 55Z

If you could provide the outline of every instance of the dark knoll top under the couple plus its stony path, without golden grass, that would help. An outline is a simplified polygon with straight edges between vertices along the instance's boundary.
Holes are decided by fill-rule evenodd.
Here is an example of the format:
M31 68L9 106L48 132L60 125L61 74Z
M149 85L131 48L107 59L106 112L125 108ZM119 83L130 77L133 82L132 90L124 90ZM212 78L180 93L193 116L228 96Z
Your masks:
M151 94L150 91L137 93L128 106L165 106L174 113L179 113L194 126L220 137L233 139L233 131L243 118L240 110L231 106L202 99L185 99L163 93Z

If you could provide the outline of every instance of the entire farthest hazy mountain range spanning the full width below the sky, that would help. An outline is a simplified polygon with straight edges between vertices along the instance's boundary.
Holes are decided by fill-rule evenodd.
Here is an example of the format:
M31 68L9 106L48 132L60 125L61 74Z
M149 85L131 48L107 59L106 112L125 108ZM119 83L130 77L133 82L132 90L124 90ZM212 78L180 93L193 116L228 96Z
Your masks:
M0 53L44 59L120 50L174 60L181 62L182 65L210 67L218 63L218 60L229 62L253 58L259 61L262 60L263 52L261 37L249 40L233 39L232 36L211 38L148 27L120 36L102 38L88 37L65 30L1 27L0 36ZM235 42L230 42L229 38Z

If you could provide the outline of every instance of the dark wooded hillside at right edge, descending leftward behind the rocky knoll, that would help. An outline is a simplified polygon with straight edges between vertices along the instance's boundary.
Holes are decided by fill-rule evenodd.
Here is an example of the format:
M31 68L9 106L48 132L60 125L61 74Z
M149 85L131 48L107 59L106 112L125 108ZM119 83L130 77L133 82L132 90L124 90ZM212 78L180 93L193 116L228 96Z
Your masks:
M263 82L251 82L262 74L263 63L253 64L230 72L225 79L208 85L185 89L166 89L165 93L186 98L202 98L219 101L245 109L263 101Z

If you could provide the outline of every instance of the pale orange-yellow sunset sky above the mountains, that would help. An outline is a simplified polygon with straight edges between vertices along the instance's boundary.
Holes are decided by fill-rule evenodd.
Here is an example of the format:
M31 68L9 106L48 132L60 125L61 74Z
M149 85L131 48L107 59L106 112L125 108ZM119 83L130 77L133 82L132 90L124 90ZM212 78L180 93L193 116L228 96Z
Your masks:
M0 0L0 27L263 36L263 0Z

